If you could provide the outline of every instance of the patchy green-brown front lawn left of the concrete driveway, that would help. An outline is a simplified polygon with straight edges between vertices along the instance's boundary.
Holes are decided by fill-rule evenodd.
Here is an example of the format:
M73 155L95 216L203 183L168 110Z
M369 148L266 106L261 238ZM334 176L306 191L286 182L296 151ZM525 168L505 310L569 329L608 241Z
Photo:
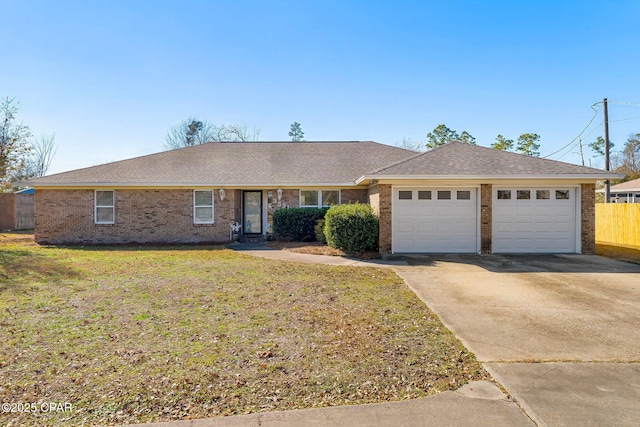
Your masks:
M3 425L362 404L488 378L389 270L207 246L5 240L0 257L0 402L38 408L0 412Z

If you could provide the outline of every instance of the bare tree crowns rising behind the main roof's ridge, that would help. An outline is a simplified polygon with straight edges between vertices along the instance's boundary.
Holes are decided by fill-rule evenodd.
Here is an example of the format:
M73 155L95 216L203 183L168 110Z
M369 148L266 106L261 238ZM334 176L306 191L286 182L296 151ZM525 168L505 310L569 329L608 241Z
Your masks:
M257 141L260 129L249 131L246 125L214 125L195 117L183 120L169 129L164 147L167 150L205 144L207 142L248 142Z

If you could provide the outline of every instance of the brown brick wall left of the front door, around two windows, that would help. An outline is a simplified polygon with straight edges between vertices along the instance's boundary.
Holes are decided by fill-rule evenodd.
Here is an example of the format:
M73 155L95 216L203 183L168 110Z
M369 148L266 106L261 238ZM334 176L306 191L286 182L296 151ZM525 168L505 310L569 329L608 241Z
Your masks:
M229 240L239 191L220 200L214 224L193 223L193 190L115 190L115 223L94 224L93 190L38 190L35 238L50 244L205 243Z

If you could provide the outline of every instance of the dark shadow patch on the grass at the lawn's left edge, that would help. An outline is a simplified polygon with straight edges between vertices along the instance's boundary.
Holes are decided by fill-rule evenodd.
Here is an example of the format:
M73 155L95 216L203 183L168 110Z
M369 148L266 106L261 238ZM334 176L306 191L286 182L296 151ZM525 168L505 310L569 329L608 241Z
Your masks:
M26 249L0 249L0 293L20 290L25 279L77 279L84 274L61 260Z

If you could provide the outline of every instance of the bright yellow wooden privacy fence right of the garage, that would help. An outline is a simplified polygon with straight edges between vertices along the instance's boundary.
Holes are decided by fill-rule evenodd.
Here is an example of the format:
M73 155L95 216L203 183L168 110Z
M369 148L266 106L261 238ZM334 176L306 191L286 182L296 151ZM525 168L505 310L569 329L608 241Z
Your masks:
M640 247L640 203L596 203L596 242Z

